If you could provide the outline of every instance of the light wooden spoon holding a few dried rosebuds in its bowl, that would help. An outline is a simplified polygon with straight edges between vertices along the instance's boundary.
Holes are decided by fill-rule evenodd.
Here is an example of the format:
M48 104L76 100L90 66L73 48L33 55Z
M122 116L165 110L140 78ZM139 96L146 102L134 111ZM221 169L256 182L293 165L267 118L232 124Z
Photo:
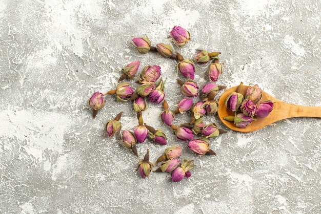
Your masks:
M256 130L262 129L263 127L272 124L276 121L292 118L292 117L319 117L321 118L321 106L302 106L302 105L293 105L290 103L283 102L278 100L266 92L263 92L261 101L272 100L274 102L273 111L269 116L265 118L258 118L256 121L246 126L244 129L236 127L233 122L227 121L224 117L234 116L234 113L227 109L225 106L226 98L232 93L236 92L238 86L232 87L226 90L218 100L218 110L217 114L219 119L231 130L237 132L254 132ZM246 90L249 88L248 85L243 86L242 93L246 94Z

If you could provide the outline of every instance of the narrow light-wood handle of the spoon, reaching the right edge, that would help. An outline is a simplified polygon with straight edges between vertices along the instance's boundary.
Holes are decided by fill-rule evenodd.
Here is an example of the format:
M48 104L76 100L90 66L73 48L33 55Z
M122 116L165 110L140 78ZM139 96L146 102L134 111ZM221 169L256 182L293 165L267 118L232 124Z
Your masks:
M294 105L286 102L279 102L279 115L282 119L292 117L319 117L321 118L321 106Z

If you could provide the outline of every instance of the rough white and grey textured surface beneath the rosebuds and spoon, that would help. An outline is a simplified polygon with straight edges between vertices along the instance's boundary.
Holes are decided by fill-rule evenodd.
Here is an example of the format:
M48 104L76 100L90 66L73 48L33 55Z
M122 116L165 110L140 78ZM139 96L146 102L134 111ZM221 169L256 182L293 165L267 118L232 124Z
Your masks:
M198 48L222 51L218 84L258 83L278 99L320 106L320 7L317 0L0 0L0 212L320 212L319 119L229 131L211 140L216 157L198 157L160 122L160 105L150 104L145 121L195 159L192 177L173 183L169 174L139 178L138 159L118 137L102 137L121 110L124 129L137 124L129 102L108 97L96 119L87 106L139 59L141 69L162 67L173 108L183 98L175 61L128 44L147 34L153 45L174 45L174 25L191 33L186 47L174 46L185 57ZM204 85L207 65L197 67ZM179 115L175 124L187 121ZM224 128L206 117L212 121ZM141 156L150 148L152 161L165 149L150 141L137 147Z

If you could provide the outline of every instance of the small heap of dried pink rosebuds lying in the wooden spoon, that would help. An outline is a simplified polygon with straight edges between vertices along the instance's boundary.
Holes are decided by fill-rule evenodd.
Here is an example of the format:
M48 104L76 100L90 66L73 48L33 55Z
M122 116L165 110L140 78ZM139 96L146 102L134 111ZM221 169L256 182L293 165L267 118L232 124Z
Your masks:
M269 116L272 112L274 103L270 100L260 102L262 90L257 84L252 85L242 94L243 82L241 82L236 92L232 92L225 100L226 108L234 112L234 116L227 116L224 119L234 122L237 127L245 128L257 118Z

